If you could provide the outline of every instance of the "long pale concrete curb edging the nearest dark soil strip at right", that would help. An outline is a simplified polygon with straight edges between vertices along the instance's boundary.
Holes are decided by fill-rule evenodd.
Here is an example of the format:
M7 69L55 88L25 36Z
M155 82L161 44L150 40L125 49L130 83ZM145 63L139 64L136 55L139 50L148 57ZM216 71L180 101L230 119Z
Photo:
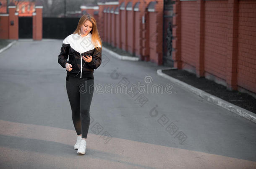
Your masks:
M175 69L175 68L171 68L171 69ZM256 115L253 112L248 111L248 110L246 110L244 108L241 108L239 106L236 106L236 105L234 105L232 103L229 103L225 100L222 100L221 98L213 96L210 93L206 93L205 91L202 91L198 88L195 88L194 86L191 86L187 83L184 83L183 81L180 81L176 78L168 76L167 74L162 73L162 70L165 70L165 69L158 69L157 70L157 75L162 76L163 78L166 78L166 79L172 81L173 83L185 88L188 91L191 91L192 93L200 96L201 98L204 98L205 100L207 100L207 101L209 101L209 102L211 102L211 103L213 103L217 106L225 108L225 109L231 111L232 113L238 114L239 116L256 123Z

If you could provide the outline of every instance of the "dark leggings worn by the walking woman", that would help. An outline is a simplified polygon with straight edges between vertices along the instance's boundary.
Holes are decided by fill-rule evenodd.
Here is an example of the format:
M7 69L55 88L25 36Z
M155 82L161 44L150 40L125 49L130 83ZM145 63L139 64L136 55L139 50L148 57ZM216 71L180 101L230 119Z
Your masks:
M66 77L66 89L76 134L87 138L90 125L90 106L94 92L94 78Z

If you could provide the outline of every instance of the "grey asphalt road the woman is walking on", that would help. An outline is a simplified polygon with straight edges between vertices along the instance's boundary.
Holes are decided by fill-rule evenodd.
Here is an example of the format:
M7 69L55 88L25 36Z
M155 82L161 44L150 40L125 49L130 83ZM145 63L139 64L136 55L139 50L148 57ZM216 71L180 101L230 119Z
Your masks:
M157 76L165 66L104 49L86 154L77 154L61 44L18 40L0 53L0 168L256 168L256 124Z

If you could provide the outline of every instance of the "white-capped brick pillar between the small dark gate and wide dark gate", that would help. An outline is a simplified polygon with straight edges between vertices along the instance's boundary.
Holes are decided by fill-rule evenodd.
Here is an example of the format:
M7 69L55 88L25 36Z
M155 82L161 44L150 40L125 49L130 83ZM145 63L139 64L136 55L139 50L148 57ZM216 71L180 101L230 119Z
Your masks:
M43 34L43 6L35 6L36 13L33 13L33 40L42 40Z

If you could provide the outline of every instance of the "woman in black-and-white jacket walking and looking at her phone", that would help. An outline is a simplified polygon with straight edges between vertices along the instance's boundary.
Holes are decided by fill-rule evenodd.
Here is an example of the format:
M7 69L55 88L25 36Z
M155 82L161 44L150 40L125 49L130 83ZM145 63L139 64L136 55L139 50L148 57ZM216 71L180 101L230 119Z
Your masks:
M85 154L94 91L94 69L101 64L102 41L93 16L81 16L75 32L63 40L58 63L66 69L66 89L71 105L77 153ZM69 60L68 59L69 55Z

